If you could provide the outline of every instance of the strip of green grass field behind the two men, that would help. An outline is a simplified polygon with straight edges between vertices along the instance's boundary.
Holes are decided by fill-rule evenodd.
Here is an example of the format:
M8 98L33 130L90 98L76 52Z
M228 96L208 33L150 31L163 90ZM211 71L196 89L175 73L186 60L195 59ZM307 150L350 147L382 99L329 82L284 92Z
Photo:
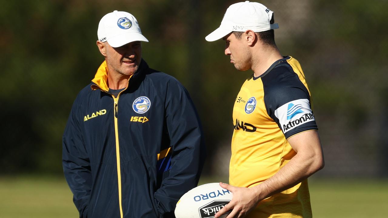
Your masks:
M312 180L309 186L314 218L387 217L387 180ZM0 218L78 217L63 178L0 176L0 196Z

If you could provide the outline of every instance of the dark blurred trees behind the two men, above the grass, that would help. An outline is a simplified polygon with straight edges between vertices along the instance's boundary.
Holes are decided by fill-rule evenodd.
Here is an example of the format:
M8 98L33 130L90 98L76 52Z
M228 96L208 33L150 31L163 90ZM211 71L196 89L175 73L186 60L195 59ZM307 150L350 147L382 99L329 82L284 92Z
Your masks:
M2 1L0 175L61 175L71 105L104 61L99 20L132 13L149 43L143 58L189 90L203 123L204 175L227 175L232 107L252 71L239 72L224 42L204 37L231 0ZM388 177L386 0L263 0L275 12L282 55L300 61L314 97L326 166L316 177Z

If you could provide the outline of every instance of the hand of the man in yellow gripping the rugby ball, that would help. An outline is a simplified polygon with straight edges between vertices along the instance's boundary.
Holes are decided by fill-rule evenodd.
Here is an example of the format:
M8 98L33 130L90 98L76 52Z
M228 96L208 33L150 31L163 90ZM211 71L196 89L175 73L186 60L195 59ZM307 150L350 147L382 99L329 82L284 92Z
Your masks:
M220 182L220 186L233 193L232 201L225 205L215 214L215 218L220 217L230 209L232 212L226 218L242 218L246 216L259 202L255 190L252 188L236 187Z

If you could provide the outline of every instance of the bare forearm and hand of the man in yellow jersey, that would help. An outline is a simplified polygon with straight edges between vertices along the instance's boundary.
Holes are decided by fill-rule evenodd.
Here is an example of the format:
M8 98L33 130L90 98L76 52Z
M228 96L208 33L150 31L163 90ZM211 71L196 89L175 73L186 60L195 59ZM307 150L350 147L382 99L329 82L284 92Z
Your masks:
M220 183L221 187L233 192L233 198L215 214L216 218L230 209L232 212L228 218L237 217L237 215L243 217L263 199L295 186L323 168L323 152L317 131L301 132L288 138L288 142L296 155L263 183L251 188Z

